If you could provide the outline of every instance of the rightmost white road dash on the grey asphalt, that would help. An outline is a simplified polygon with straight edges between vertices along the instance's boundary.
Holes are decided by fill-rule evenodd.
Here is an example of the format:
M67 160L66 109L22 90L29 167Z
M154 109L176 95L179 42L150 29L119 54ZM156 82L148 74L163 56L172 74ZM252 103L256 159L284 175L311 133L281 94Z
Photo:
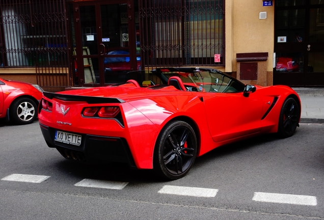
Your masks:
M254 193L253 199L258 202L286 203L294 205L317 205L316 197L291 194Z

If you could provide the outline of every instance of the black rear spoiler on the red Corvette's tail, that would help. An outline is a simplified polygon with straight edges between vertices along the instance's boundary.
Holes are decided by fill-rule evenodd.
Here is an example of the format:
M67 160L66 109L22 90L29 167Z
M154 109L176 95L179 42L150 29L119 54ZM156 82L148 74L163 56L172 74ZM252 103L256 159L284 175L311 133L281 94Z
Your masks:
M106 98L106 97L98 97L98 96L67 95L67 94L51 93L51 92L43 92L43 95L49 99L57 98L64 101L86 101L89 104L125 102L124 100L119 98Z

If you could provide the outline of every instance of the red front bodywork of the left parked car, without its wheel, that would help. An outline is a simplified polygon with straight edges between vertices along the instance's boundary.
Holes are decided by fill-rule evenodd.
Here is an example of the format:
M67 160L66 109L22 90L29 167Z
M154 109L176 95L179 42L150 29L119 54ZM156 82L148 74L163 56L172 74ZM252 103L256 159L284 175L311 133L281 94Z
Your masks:
M28 82L5 80L3 78L0 78L0 82L2 82L0 84L0 118L7 116L7 109L16 98L30 97L38 103L43 96L43 93Z

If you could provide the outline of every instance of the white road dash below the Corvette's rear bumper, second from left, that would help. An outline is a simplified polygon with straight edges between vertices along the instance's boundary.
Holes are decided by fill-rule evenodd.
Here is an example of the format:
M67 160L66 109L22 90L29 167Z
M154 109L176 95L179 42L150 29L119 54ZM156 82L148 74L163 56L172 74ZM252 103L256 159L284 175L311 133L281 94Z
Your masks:
M123 189L128 182L117 182L117 181L106 181L106 180L95 180L95 179L83 179L75 186L93 187L93 188L106 188L106 189Z

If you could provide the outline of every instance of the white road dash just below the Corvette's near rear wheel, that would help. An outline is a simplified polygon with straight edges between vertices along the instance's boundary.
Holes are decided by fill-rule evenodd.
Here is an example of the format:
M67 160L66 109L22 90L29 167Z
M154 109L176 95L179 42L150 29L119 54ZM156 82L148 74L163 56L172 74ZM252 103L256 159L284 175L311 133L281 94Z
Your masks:
M157 193L194 197L215 197L217 192L218 189L211 188L165 185Z

